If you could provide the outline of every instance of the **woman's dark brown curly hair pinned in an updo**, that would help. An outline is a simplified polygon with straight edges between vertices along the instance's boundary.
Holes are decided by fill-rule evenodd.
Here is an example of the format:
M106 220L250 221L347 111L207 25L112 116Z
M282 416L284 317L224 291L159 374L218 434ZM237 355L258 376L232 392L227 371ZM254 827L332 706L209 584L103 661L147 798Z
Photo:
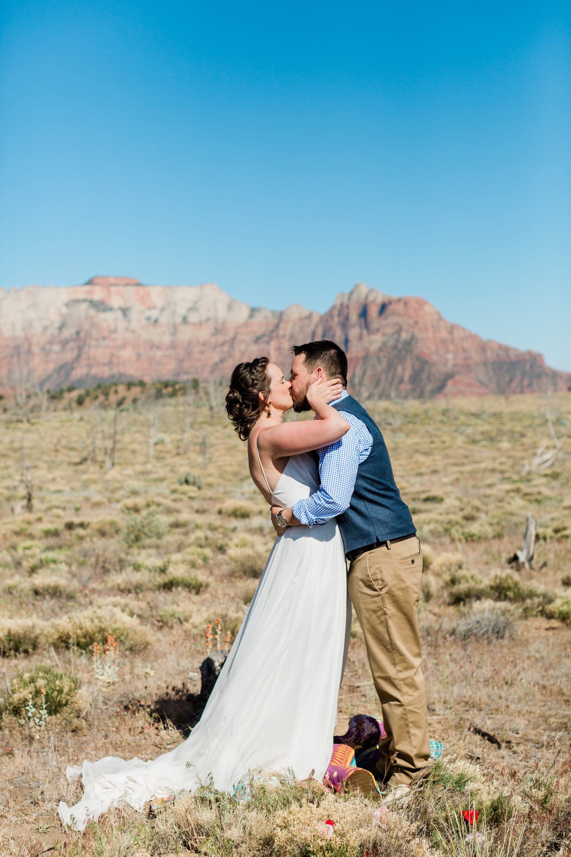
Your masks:
M267 357L256 357L252 363L238 363L230 378L226 413L241 440L247 440L270 399L268 363ZM264 393L263 400L259 399L258 393Z

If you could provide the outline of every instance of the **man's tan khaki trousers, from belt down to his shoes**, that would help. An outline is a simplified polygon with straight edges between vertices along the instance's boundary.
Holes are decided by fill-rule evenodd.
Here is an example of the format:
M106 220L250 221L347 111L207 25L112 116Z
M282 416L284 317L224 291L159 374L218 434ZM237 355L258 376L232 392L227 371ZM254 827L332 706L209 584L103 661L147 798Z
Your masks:
M387 737L378 779L408 783L428 763L425 679L420 669L422 553L417 536L361 554L348 572L348 590L365 636Z

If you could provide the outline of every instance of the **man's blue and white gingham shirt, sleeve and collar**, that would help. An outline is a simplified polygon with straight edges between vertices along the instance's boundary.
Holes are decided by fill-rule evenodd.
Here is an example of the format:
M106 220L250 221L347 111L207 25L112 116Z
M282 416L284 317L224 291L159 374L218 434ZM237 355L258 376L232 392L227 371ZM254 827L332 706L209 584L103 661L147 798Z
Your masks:
M347 399L343 390L337 402ZM315 494L306 500L298 500L292 506L292 512L301 524L310 527L325 524L348 509L357 478L357 468L366 461L372 448L372 436L369 429L353 414L341 411L350 423L348 433L341 440L318 449L319 477L321 485Z

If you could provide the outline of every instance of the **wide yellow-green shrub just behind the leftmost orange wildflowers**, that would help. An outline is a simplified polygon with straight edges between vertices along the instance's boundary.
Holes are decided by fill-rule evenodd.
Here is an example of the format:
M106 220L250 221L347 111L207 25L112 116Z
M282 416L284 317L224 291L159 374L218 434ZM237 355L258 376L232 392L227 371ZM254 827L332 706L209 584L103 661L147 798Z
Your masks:
M93 643L103 645L108 634L119 640L123 648L134 651L145 649L150 642L140 621L116 607L92 607L53 621L50 641L56 646L73 642L78 649L89 649Z

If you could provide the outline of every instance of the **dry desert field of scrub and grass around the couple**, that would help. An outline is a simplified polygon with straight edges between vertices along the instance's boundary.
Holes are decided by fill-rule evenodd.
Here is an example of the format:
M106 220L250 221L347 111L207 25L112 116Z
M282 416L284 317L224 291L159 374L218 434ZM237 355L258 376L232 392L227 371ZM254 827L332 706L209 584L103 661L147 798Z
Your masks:
M200 665L231 645L264 569L274 531L224 395L195 381L0 401L0 854L571 854L571 394L367 405L423 547L445 746L407 800L381 812L284 778L247 803L205 789L62 830L59 801L81 795L68 765L185 739ZM509 560L530 512L526 568ZM351 637L337 734L382 716L355 617Z

